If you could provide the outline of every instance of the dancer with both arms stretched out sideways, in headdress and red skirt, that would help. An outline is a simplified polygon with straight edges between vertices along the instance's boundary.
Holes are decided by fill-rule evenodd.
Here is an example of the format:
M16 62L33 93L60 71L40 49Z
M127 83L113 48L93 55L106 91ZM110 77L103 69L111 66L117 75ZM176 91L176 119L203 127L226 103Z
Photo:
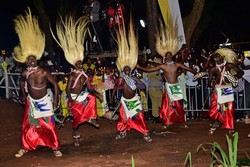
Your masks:
M160 118L165 125L172 125L175 122L185 123L183 109L183 95L178 83L178 69L196 73L195 70L176 63L172 60L172 54L176 54L178 49L177 29L169 20L168 29L160 22L160 29L156 36L156 50L165 59L165 63L152 68L143 68L137 65L137 68L154 72L162 70L166 79L165 91L162 96L162 105ZM184 125L187 127L186 125ZM166 128L166 126L164 126Z

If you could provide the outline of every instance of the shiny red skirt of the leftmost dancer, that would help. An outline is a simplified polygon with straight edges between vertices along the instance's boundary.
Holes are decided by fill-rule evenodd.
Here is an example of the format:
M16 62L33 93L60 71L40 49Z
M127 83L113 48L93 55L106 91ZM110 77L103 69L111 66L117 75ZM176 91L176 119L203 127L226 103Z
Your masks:
M60 143L55 126L54 116L38 118L37 125L29 122L29 101L26 100L22 125L22 148L28 151L35 150L39 146L47 146L51 149L59 149Z

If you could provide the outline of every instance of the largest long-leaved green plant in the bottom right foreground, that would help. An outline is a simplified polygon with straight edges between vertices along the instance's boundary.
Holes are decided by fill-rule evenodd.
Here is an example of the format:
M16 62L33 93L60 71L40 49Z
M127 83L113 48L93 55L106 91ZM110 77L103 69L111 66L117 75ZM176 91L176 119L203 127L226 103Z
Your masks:
M228 155L225 153L225 151L221 148L221 146L217 142L209 144L212 146L212 148L210 148L213 158L213 161L210 164L211 167L213 167L216 164L222 165L223 167L237 166L237 152L238 152L238 140L239 140L238 132L234 133L233 136L234 138L232 140L226 135ZM198 146L197 152L199 152L200 149L206 151L203 144Z

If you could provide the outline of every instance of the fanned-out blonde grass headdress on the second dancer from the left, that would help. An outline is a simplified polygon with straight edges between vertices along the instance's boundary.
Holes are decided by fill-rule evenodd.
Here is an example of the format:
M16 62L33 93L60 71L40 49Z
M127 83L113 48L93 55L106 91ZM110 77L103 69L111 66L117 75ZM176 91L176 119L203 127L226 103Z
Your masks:
M88 29L89 19L80 17L76 20L72 15L65 17L56 23L56 33L58 39L50 29L53 38L63 49L66 60L73 66L77 61L84 59L84 40Z

